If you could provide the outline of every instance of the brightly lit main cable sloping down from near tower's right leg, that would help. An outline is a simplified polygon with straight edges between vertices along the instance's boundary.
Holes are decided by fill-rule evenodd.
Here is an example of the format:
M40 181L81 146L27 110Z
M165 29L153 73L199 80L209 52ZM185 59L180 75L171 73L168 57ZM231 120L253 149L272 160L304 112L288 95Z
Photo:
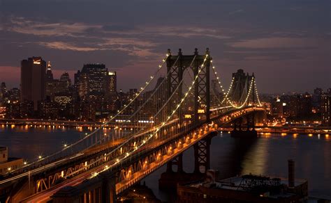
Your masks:
M172 122L172 121L170 121L170 118L172 118L172 116L178 111L179 107L182 105L182 103L185 101L186 97L189 95L189 92L193 89L193 86L194 86L194 84L196 83L196 81L197 81L197 79L198 79L198 76L199 76L201 70L203 69L203 67L204 67L204 65L205 65L205 61L207 60L207 57L208 57L208 54L206 54L206 56L205 56L205 60L203 60L203 64L201 65L200 69L198 70L198 74L196 75L196 77L195 77L193 83L191 84L191 86L189 87L189 90L187 90L187 91L185 92L184 97L183 97L182 99L180 99L179 104L177 104L177 106L176 106L175 109L172 111L172 113L170 113L170 115L168 115L168 116L166 117L165 121L163 121L163 122L161 123L161 127L156 127L156 130L155 130L153 133L150 133L150 134L147 136L147 138L144 139L144 142L142 142L140 145L138 145L138 146L135 147L133 150L131 150L131 152L126 152L125 155L122 155L122 156L120 156L120 157L117 156L117 160L116 160L115 162L108 164L108 167L107 167L107 168L103 168L102 170L96 172L96 174L98 174L98 173L100 173L100 172L103 172L103 171L105 171L105 170L110 170L110 168L112 168L113 166L118 165L119 163L121 163L122 161L124 161L124 160L125 160L128 156L130 156L133 152L135 152L135 151L137 151L138 149L140 149L141 147L143 147L143 146L145 145L145 143L147 143L147 141L151 140L151 139L156 135L156 133L158 133L158 132L161 130L162 127L164 127L166 124L168 124L168 122ZM192 63L193 63L193 61L192 61ZM180 83L182 83L182 81L181 81ZM174 91L174 92L172 93L172 96L175 95L175 92L176 92L176 91ZM168 99L167 103L169 103L169 101L170 101L170 100ZM165 105L163 105L162 108L164 108L164 107L165 107ZM159 111L159 112L160 112L160 111ZM159 112L158 112L158 113L159 113ZM123 147L125 144L129 143L129 141L131 141L132 138L133 138L133 136L132 136L131 138L129 138L128 140L126 140L124 143L122 143L122 145L119 145L116 149L113 149L112 152L109 152L108 154L105 154L105 156L110 156L112 153L114 153L114 152L116 152L117 150L121 149L121 147ZM96 162L98 162L98 161L100 161L100 159L94 161L93 163L90 163L90 165L94 165L94 163L96 163ZM75 172L73 172L73 173L75 173ZM95 174L94 174L94 176L95 176Z

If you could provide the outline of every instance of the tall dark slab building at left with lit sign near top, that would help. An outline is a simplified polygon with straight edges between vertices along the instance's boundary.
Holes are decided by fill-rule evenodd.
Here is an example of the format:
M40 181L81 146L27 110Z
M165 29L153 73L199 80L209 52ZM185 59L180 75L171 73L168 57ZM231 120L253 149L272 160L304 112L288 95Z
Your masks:
M41 57L31 57L21 62L21 101L34 101L34 110L38 100L45 99L46 62Z

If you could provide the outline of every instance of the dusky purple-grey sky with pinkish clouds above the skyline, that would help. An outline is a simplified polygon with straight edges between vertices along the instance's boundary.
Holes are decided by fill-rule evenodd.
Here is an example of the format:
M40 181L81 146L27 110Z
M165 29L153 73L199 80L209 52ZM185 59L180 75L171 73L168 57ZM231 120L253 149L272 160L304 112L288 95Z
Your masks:
M56 78L104 63L138 88L167 49L209 47L224 84L242 68L260 92L331 88L331 1L0 0L0 81L42 56Z

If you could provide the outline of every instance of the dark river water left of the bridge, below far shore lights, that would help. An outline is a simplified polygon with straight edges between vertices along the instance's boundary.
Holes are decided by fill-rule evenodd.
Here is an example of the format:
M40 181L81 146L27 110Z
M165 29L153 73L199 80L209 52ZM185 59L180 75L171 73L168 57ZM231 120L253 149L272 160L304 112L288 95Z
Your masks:
M8 147L9 156L21 157L31 162L36 161L39 155L45 156L59 151L64 144L70 145L94 130L92 127L68 128L48 125L0 126L0 146ZM109 131L111 130L103 129L102 133Z

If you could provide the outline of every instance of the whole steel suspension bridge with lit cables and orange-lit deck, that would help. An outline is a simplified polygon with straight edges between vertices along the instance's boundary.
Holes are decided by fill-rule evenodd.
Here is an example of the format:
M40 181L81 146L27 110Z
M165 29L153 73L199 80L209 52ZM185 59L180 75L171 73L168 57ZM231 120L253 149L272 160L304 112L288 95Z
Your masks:
M198 49L193 55L168 49L156 72L107 122L1 177L6 202L115 202L191 146L204 153L196 170L205 172L209 155L201 143L228 123L242 132L243 117L245 131L253 132L252 115L265 111L254 75L233 77L226 90L216 69L209 49L201 55Z

